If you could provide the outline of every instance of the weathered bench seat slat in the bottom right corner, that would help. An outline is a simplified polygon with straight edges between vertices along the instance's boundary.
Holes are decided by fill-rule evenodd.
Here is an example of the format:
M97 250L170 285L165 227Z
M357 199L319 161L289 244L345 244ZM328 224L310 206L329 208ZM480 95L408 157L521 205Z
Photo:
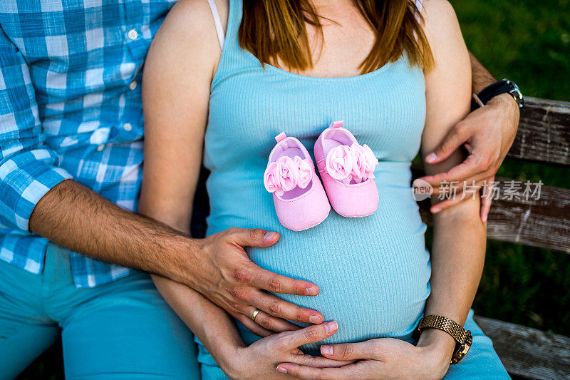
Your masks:
M509 374L541 380L570 379L570 338L518 324L475 317ZM468 355L468 354L467 354Z

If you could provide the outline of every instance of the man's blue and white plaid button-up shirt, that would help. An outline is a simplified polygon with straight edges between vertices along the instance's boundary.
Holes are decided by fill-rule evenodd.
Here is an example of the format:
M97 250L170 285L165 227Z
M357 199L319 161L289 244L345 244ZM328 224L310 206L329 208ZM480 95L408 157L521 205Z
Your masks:
M127 210L142 178L140 79L176 0L0 1L0 259L40 273L33 207L68 178ZM131 269L71 253L77 287Z

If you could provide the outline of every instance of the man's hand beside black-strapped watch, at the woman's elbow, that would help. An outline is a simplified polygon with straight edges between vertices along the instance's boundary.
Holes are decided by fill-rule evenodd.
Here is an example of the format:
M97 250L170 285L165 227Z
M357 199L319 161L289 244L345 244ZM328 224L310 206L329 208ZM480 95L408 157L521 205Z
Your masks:
M445 139L435 150L425 157L429 164L440 163L451 153L464 145L469 155L463 163L446 173L421 178L433 187L433 195L440 192L440 184L455 183L457 194L455 199L442 200L433 205L433 213L455 205L472 196L462 194L463 184L477 188L492 185L494 175L509 152L509 148L517 135L519 125L519 106L507 93L495 96L484 107L478 108L465 117L455 128L447 133ZM492 192L484 191L482 196L481 219L487 221L491 207Z

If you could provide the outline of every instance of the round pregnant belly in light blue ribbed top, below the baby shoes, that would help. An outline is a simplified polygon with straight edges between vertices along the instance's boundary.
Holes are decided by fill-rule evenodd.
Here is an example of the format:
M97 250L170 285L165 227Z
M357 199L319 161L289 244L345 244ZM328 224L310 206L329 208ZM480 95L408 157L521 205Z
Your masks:
M325 342L412 332L430 292L425 225L414 202L380 196L378 211L369 217L349 219L331 211L314 228L280 232L276 245L251 248L249 257L264 269L317 284L316 297L276 295L316 309L339 326L332 337L304 346L304 351L316 353ZM259 339L240 328L248 344Z

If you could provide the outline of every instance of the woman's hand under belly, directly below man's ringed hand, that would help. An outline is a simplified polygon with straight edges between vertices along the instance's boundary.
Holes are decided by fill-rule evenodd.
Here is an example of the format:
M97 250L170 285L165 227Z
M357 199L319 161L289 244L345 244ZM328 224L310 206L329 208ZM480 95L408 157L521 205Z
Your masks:
M277 364L289 363L309 368L335 368L346 366L351 361L326 359L322 356L311 356L301 352L299 346L320 342L331 337L338 330L336 322L325 322L306 327L294 332L281 332L254 342L251 346L239 347L226 354L227 360L219 365L230 379L292 379L289 374L275 371Z

